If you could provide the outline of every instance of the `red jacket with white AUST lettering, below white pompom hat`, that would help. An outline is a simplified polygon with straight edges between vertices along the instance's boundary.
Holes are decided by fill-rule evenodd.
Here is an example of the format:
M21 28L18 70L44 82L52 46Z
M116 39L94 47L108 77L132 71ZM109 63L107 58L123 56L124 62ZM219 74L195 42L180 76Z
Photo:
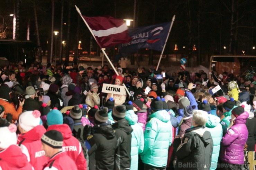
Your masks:
M38 125L27 133L18 135L17 144L35 169L43 169L44 163L49 159L44 156L45 152L41 149L41 137L45 132L45 128Z

